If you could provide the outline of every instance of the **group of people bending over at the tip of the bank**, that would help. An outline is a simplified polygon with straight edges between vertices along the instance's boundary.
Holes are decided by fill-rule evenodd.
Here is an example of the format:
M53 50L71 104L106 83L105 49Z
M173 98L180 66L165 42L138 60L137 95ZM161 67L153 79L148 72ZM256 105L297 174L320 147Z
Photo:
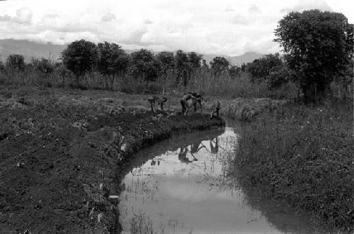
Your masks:
M182 116L188 115L188 111L190 107L194 108L194 111L198 111L198 109L202 110L202 101L206 101L203 99L204 94L197 93L197 92L187 92L183 94L180 103L181 103L181 114ZM152 112L154 111L154 105L159 104L161 107L161 110L164 110L164 103L167 101L166 97L158 97L158 96L152 96L148 99ZM191 101L191 102L190 102ZM213 118L216 114L217 117L219 117L219 110L220 110L220 103L217 101L215 104L212 105L212 108L210 109L210 118Z

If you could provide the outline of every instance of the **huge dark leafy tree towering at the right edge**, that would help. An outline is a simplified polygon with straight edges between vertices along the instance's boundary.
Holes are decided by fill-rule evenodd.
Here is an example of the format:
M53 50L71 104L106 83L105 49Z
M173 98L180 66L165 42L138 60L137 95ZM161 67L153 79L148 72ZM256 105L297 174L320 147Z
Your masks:
M306 102L322 97L353 57L353 24L342 13L291 12L279 21L275 35Z

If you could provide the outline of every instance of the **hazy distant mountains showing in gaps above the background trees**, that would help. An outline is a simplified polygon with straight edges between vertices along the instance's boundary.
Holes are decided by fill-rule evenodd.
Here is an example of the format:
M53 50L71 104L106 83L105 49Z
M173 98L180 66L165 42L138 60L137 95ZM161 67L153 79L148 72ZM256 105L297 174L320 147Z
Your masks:
M3 39L0 40L0 59L5 61L6 57L11 54L23 55L25 62L30 62L32 57L54 57L55 60L59 60L60 53L66 48L67 45L55 45L52 43L42 44L30 42L28 40L13 40ZM137 50L125 50L127 53L131 53ZM214 57L225 57L229 60L230 64L241 66L242 63L252 62L258 59L262 54L258 52L246 52L244 55L239 56L227 56L227 55L203 55L203 59L207 64Z

